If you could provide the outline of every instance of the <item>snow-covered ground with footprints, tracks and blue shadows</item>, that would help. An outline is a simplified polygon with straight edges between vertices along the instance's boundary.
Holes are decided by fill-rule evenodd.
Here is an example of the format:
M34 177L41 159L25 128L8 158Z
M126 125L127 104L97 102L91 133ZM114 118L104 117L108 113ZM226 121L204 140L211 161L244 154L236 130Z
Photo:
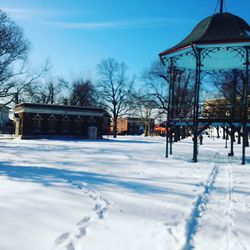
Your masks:
M1 140L1 250L250 249L246 166L224 141Z

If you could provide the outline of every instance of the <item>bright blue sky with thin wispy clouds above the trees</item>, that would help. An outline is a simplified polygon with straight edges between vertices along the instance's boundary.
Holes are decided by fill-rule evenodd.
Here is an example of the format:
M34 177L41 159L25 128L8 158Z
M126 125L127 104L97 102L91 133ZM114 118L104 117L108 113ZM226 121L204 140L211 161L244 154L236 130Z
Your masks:
M250 22L250 0L227 0ZM139 74L158 53L182 40L215 11L217 0L0 0L33 49L33 64L50 58L53 74L94 76L101 59L125 62Z

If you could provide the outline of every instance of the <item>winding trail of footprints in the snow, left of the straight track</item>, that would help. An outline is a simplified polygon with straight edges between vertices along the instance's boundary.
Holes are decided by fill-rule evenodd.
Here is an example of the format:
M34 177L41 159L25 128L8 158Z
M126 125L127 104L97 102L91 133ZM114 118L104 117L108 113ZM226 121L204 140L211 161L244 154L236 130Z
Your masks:
M79 222L76 223L75 228L70 231L63 233L55 240L55 248L54 249L66 249L66 250L75 250L76 242L86 236L88 234L88 227L91 223L96 222L97 220L102 220L105 217L105 213L109 206L112 204L104 199L100 193L94 190L88 190L86 185L81 183L71 183L73 186L77 186L77 188L83 189L84 193L92 200L95 201L95 205L93 207L92 212L89 216L85 216Z

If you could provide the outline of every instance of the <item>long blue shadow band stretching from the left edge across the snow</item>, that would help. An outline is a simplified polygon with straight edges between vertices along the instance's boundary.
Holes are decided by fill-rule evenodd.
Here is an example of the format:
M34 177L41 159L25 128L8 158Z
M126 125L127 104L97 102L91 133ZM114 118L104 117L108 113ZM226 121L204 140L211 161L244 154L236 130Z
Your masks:
M75 188L83 188L84 183L95 186L113 186L113 188L124 188L126 190L139 193L168 193L172 195L181 195L190 197L185 193L178 193L175 190L156 187L149 184L124 181L113 175L104 175L98 173L89 173L84 171L72 171L66 169L31 167L31 166L12 166L11 163L0 163L0 175L8 176L19 181L39 183L44 186L58 186L62 183L68 183Z

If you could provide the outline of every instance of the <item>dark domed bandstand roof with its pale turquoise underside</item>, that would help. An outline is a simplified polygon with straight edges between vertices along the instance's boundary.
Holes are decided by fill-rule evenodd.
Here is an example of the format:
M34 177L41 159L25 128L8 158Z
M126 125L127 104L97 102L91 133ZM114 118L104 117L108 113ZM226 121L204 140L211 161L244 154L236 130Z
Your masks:
M244 47L250 46L250 27L231 13L216 13L202 20L183 41L160 53L162 60L175 57L175 66L195 68L195 48L203 48L205 70L244 67Z

